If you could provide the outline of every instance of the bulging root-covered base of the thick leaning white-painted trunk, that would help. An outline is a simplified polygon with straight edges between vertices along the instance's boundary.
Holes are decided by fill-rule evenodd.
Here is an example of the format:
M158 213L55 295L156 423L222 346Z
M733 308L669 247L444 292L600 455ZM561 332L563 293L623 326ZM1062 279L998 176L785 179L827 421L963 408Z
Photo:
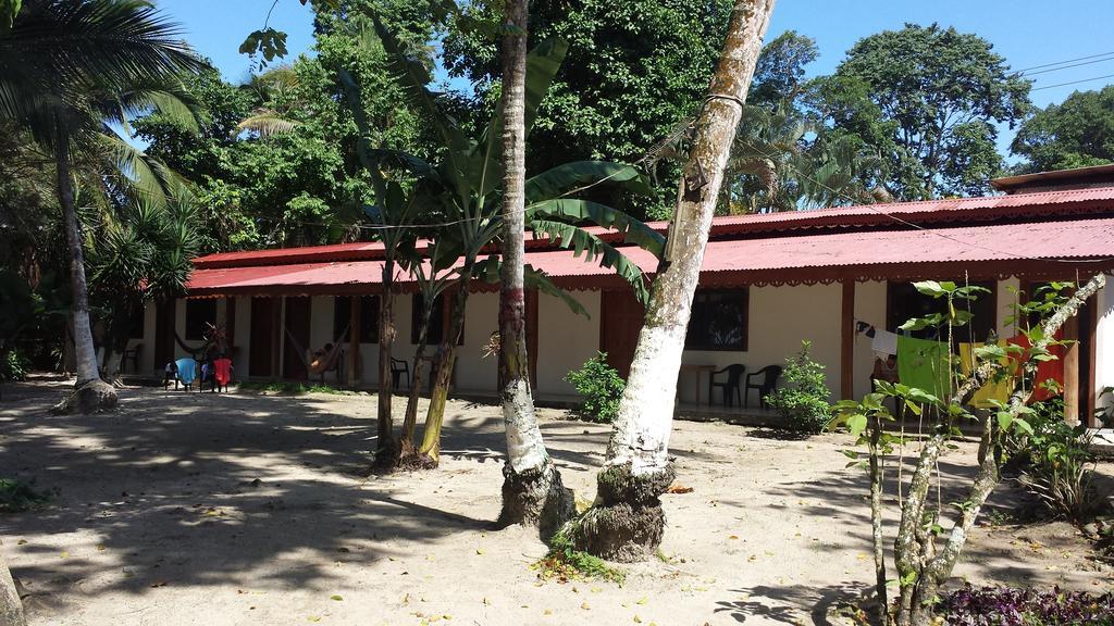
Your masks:
M619 563L653 557L665 534L659 497L675 477L672 463L641 476L631 473L629 464L600 471L596 502L571 526L576 548Z

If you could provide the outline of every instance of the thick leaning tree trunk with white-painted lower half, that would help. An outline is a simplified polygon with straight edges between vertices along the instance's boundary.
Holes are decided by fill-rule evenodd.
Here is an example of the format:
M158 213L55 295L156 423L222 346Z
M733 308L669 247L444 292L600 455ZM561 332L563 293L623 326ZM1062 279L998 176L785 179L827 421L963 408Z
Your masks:
M735 2L711 92L696 120L665 257L597 478L596 502L570 532L582 549L604 558L646 559L662 540L665 516L658 497L674 477L667 452L693 294L773 4L774 0Z

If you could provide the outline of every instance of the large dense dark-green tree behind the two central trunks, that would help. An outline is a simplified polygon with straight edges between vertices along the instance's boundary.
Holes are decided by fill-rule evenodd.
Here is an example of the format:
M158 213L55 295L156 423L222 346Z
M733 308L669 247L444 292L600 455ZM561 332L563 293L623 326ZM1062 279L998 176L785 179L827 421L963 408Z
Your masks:
M444 65L476 85L480 119L500 92L499 47L490 32L501 23L501 2L462 9L444 38ZM584 159L633 163L695 115L723 42L731 0L536 0L530 3L529 45L568 41L568 59L538 110L527 146L528 173ZM487 28L483 28L485 25ZM479 125L477 125L479 126ZM671 166L672 167L672 166ZM672 179L675 168L662 174ZM620 193L597 199L664 217L668 185L657 199Z

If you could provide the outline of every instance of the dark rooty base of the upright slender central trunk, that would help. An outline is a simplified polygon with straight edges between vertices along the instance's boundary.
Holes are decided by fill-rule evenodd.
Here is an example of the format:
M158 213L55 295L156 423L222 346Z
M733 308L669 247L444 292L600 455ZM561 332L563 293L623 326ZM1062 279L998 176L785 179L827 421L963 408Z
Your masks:
M536 526L545 540L576 516L573 490L564 486L553 461L522 473L507 463L502 476L502 510L496 522L500 528L515 524Z

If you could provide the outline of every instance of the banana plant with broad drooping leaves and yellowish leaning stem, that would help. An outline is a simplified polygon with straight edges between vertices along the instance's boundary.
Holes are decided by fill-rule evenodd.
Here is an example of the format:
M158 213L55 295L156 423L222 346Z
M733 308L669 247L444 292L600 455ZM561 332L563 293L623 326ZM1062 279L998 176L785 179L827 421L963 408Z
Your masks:
M390 227L382 229L385 237L401 237L403 235L398 233L414 232L420 227L417 222L420 215L437 216L440 221L436 226L420 227L434 242L429 248L430 271L434 274L448 272L455 281L449 332L436 364L433 393L426 419L427 432L418 451L436 463L440 423L448 399L457 343L463 327L469 284L473 278L498 275L498 253L492 251L498 250L502 227L502 155L499 140L501 116L498 113L492 116L479 138L469 137L443 111L439 106L439 95L429 88L431 77L426 59L407 52L393 35L378 22L375 33L377 42L387 50L392 69L411 105L428 119L440 143L440 160L436 166L413 155L373 149L368 139L371 129L362 114L359 88L350 75L341 72L349 105L353 108L361 131L358 147L360 158L364 167L372 172L373 178L379 180L375 188L380 202L375 209L369 212L369 216L381 221L384 226L390 224ZM527 131L567 51L566 42L547 40L527 57ZM402 184L381 178L384 170L392 169L409 172L412 186L407 189ZM664 248L664 237L616 208L577 197L604 184L618 185L633 193L651 193L646 177L629 165L593 160L564 164L527 180L527 227L565 248L571 248L586 262L597 262L614 268L631 283L639 299L645 299L646 281L638 265L618 247L579 225L590 222L614 229L625 243L639 246L657 256L661 256ZM383 241L388 250L393 247L385 238ZM563 293L545 274L532 268L528 268L527 281L547 293ZM384 285L384 292L385 290ZM570 297L564 296L564 300L575 311L585 313L578 304L573 304L575 301Z

